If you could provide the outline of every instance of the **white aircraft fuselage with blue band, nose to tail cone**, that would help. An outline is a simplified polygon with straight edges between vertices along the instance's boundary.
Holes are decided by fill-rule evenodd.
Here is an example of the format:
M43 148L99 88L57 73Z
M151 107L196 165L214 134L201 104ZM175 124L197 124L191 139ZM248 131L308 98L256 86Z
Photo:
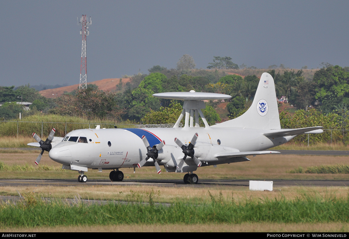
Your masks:
M179 138L183 144L189 144L195 133L198 133L195 156L204 162L218 160L214 155L219 152L265 150L287 142L285 137L272 139L256 129L241 128L79 129L68 133L61 143L51 149L49 156L63 165L92 169L137 167L137 164L147 157L147 149L141 139L145 135L151 147L165 141L157 160L160 165L165 165L166 169L171 171L171 168L175 170L184 157L174 138ZM239 137L235 137L236 135ZM76 137L76 141L77 138L83 138L85 142L68 141L70 137ZM186 160L186 164L187 170L184 167L181 172L196 170L190 160ZM151 165L154 165L152 159L148 160L145 166Z

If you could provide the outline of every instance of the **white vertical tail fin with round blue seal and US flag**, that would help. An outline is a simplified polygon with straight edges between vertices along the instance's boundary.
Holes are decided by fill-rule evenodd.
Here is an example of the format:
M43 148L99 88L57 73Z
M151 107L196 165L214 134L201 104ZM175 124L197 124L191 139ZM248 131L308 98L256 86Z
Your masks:
M273 77L262 74L253 103L243 115L211 127L281 129Z

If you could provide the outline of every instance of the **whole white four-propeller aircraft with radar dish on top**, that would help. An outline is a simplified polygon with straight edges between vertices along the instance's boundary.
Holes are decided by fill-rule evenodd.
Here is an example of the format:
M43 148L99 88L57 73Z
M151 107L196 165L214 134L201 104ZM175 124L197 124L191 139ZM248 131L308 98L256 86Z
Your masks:
M53 137L52 129L44 142L37 134L38 143L28 145L42 149L35 163L38 164L44 151L62 164L63 169L77 170L79 182L86 182L88 168L112 170L111 181L122 181L120 168L160 166L166 172L186 173L184 183L198 183L193 172L198 167L216 166L233 162L250 161L246 156L279 153L265 151L268 148L290 141L299 134L319 134L322 127L281 129L275 85L272 76L263 73L253 103L236 119L209 126L201 109L203 100L227 99L231 96L201 92L168 92L153 96L165 99L184 100L183 111L173 128L127 128L127 129L78 129L65 137ZM179 127L185 115L184 127ZM205 127L199 126L199 116Z

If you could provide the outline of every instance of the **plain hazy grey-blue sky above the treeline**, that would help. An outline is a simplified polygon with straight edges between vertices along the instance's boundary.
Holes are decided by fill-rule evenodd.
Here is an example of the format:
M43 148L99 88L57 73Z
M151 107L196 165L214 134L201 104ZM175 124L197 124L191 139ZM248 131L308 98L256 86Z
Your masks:
M175 68L214 56L247 67L349 66L349 1L0 0L0 86L80 81L81 25L87 82Z

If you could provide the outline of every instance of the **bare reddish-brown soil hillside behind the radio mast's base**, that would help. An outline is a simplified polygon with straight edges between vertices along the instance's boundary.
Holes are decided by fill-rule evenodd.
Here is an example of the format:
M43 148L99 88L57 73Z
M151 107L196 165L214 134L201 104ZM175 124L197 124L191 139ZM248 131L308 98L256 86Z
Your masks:
M123 78L122 79L122 85L124 86L127 82L129 82L129 78ZM88 84L94 84L98 86L99 89L105 90L105 91L116 91L116 85L120 82L120 78L114 78L114 79L103 79L103 80L97 80L92 82L87 82ZM56 98L61 96L64 92L71 92L79 87L79 84L73 85L73 86L64 86L60 88L55 89L47 89L39 91L39 93L42 96L45 96L46 98Z

